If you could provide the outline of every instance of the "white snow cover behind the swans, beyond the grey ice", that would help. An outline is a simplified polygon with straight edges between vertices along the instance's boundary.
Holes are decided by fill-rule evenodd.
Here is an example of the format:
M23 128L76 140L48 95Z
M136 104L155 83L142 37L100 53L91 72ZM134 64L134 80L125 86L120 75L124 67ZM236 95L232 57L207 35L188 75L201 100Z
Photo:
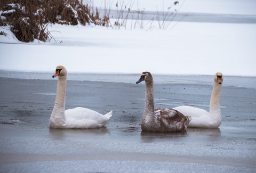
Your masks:
M167 1L137 1L134 8L156 11ZM101 1L94 1L100 7ZM113 3L115 4L115 3ZM180 4L182 1L180 1ZM167 6L168 5L164 5ZM186 1L180 12L238 14L256 17L255 1ZM115 8L115 5L111 6ZM20 43L0 27L0 70L256 76L256 23L175 22L161 30L111 29L49 24L50 43ZM131 29L132 28L132 29ZM148 30L147 30L148 29Z

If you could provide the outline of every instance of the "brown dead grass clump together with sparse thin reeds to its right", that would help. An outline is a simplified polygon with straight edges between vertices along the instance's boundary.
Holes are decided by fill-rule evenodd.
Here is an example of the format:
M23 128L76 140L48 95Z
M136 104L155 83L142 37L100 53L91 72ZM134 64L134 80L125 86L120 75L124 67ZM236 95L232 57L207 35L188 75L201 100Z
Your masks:
M145 29L147 24L155 20L151 19L148 23L145 20L144 10L132 11L132 7L137 0L130 0L127 4L124 0L117 0L116 17L114 24L110 22L110 9L113 0L102 0L103 14L101 9L94 9L93 0L1 0L0 1L0 27L9 26L10 30L21 42L33 42L35 39L46 42L53 37L47 29L48 23L59 23L66 25L91 24L120 29L127 28L127 19L131 19L131 30L135 28ZM184 1L185 2L185 1ZM173 6L179 4L174 1L167 12L162 15L157 10L156 20L159 29L166 29L177 13L172 12ZM182 4L183 5L183 4ZM163 5L164 7L164 5ZM2 12L1 12L2 11Z

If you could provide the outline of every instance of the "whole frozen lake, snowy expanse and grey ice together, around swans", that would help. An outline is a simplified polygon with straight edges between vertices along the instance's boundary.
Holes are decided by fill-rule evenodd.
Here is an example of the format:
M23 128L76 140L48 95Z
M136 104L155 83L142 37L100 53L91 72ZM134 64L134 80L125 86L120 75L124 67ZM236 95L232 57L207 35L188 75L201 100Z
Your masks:
M171 30L131 30L131 19L127 30L55 24L55 40L41 44L0 27L9 34L0 36L0 172L256 172L255 2L186 1ZM163 3L140 0L134 9L145 9L146 22ZM113 110L106 127L49 128L60 64L66 109ZM142 69L154 76L156 107L205 110L222 72L221 126L143 133Z

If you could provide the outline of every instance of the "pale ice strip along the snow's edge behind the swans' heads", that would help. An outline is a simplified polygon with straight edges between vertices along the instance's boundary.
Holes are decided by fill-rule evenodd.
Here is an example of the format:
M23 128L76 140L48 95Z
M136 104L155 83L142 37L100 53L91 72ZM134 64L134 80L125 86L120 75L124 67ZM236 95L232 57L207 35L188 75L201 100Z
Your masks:
M53 72L31 72L0 70L2 78L56 80L52 78ZM223 74L224 75L224 74ZM155 84L198 84L213 85L210 75L153 75ZM223 86L256 89L256 77L223 76ZM101 81L110 83L135 84L140 78L140 73L68 73L68 80ZM1 80L1 79L0 79Z

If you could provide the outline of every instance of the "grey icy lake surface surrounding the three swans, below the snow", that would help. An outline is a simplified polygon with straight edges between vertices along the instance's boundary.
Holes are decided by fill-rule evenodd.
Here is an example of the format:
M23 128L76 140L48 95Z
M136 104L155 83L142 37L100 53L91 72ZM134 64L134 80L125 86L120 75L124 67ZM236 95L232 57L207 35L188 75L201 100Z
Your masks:
M0 172L256 170L255 89L228 87L228 76L221 93L221 126L188 128L183 134L141 131L145 84L135 84L140 74L69 74L74 80L67 83L66 109L83 106L103 114L113 110L113 117L99 129L51 129L57 79L51 72L6 72L9 77L10 73L21 79L0 78ZM21 74L50 80L23 79ZM185 104L209 110L212 76L155 75L154 79L168 77L170 84L154 86L156 107ZM77 80L82 78L119 83ZM237 84L250 78L232 79ZM200 80L210 84L199 85Z

